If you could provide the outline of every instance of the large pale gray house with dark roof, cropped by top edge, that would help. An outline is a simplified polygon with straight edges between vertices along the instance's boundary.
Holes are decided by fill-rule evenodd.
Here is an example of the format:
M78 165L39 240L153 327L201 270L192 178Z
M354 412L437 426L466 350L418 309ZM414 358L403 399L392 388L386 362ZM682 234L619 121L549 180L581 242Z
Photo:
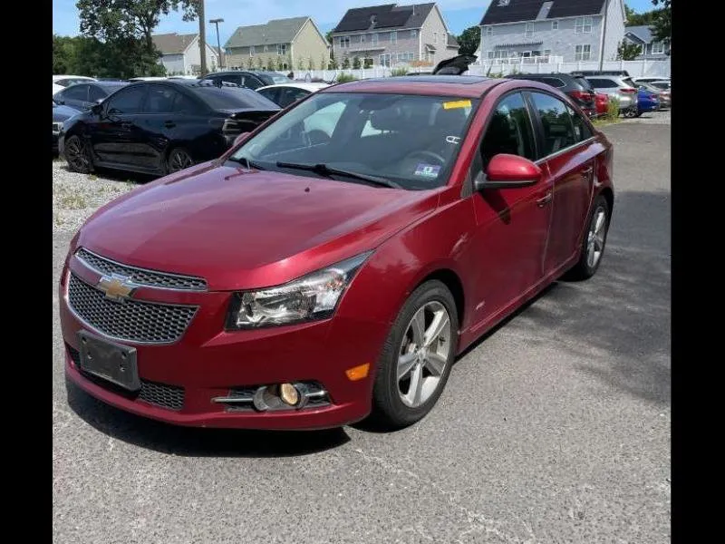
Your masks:
M480 58L506 63L554 56L572 63L604 54L604 61L614 60L625 19L623 0L491 0L480 23Z

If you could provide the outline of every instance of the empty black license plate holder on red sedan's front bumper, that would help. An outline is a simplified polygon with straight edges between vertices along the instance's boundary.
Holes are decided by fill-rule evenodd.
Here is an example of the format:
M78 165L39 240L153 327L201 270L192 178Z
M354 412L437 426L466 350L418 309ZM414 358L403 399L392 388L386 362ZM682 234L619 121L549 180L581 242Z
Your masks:
M131 392L141 388L136 348L109 342L101 336L79 331L80 366L88 374Z

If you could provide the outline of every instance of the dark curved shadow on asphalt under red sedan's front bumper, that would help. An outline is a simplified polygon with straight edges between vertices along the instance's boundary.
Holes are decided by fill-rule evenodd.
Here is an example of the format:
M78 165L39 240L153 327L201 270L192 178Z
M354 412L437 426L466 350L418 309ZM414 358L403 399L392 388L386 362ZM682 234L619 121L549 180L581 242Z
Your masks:
M350 437L343 428L324 431L199 429L160 423L102 403L66 379L68 405L85 423L116 440L184 457L293 457L324 452Z

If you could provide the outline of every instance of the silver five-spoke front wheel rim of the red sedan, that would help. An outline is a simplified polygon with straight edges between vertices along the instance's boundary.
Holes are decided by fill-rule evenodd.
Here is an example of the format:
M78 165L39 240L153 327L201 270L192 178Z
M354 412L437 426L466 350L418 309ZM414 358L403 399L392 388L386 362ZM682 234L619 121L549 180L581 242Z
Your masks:
M440 386L450 359L450 316L437 301L421 306L405 329L398 353L397 384L401 401L417 408Z

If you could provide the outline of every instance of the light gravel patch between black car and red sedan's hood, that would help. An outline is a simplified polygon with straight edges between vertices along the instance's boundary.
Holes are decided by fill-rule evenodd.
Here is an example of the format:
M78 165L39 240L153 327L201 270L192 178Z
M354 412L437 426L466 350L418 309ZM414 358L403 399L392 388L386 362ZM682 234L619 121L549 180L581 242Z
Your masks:
M53 230L74 233L106 202L136 187L125 174L79 174L53 160Z

